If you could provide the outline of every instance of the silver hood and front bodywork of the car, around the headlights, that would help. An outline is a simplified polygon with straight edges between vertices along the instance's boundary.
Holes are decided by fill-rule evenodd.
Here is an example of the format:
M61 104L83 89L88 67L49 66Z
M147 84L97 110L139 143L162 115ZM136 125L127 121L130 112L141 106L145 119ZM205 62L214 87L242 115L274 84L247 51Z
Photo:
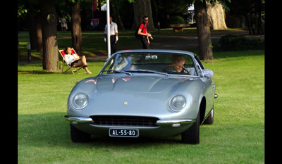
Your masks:
M188 91L193 94L200 91L197 80L200 78L144 74L89 77L78 82L69 97L72 100L76 93L85 93L89 97L87 106L82 111L68 110L68 115L136 115L173 119L189 111L171 111L169 99L176 94L184 95L189 100L186 108L190 108L195 99Z

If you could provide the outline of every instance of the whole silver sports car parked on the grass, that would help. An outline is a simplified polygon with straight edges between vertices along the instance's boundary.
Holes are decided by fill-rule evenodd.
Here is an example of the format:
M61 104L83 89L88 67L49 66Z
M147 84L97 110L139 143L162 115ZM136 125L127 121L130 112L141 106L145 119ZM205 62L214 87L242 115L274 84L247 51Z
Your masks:
M214 122L213 74L189 51L118 51L73 87L65 115L71 139L181 134L183 143L199 144L200 125Z

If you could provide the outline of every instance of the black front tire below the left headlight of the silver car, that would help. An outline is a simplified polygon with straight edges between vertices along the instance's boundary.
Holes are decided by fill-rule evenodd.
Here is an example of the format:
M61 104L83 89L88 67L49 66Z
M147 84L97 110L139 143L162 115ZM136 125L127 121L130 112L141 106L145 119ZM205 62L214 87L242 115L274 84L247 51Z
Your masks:
M73 142L87 142L90 141L91 134L81 132L71 125L71 141Z

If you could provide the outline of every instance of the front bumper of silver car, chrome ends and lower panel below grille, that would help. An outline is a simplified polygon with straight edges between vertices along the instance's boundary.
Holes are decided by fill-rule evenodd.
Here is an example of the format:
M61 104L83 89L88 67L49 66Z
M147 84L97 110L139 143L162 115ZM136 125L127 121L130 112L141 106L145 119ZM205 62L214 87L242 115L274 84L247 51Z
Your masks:
M196 120L190 119L175 119L175 120L157 120L157 127L132 127L132 126L115 126L115 125L92 125L92 118L87 117L69 117L65 115L65 120L71 122L78 130L82 132L108 135L109 128L136 128L140 131L140 137L168 137L181 134Z

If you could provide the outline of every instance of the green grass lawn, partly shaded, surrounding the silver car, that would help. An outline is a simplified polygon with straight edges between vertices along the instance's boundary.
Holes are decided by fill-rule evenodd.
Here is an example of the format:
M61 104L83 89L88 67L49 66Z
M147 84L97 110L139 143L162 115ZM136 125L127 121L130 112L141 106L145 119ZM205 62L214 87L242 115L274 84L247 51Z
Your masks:
M97 75L104 61L89 61ZM90 77L42 71L42 63L18 65L18 163L264 163L264 51L214 52L218 99L214 125L200 127L200 144L161 139L93 137L71 141L66 114L75 82Z

